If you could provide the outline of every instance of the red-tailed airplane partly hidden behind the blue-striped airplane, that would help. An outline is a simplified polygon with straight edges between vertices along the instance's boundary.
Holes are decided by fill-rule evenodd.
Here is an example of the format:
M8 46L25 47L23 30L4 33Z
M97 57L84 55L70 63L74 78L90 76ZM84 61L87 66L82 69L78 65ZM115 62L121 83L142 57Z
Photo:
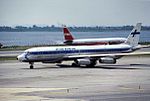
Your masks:
M89 38L89 39L75 39L69 29L63 26L64 44L66 45L105 45L105 44L120 44L124 43L126 38Z

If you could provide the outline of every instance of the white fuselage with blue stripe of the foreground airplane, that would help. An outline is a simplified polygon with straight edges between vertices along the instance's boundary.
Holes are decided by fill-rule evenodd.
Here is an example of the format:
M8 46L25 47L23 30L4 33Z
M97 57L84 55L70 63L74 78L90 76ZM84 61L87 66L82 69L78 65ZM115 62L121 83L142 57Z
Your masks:
M55 47L37 47L25 50L18 56L18 60L24 62L40 61L62 61L67 56L82 54L100 54L100 53L121 53L131 51L131 46L127 44L119 45L93 45L93 46L55 46Z

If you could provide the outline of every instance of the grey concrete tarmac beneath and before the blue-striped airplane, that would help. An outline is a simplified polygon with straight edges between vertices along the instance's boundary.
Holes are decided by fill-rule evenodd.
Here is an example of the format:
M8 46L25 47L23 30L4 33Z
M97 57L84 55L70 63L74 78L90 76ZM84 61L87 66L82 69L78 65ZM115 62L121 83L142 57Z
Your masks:
M149 101L150 56L94 68L0 62L1 101Z

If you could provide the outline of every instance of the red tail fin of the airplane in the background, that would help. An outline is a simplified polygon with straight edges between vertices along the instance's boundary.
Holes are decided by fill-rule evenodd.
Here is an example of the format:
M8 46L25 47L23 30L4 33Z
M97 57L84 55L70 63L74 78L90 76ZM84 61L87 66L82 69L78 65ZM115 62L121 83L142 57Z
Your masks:
M66 41L73 41L74 38L71 35L69 29L66 26L63 26L64 38Z

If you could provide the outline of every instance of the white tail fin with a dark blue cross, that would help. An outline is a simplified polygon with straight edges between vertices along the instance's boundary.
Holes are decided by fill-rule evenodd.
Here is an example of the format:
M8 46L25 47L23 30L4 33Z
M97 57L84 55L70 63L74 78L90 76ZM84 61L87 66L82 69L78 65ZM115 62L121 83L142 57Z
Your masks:
M141 25L142 23L137 23L136 26L131 31L131 33L129 34L127 40L125 41L126 44L131 45L133 48L136 48L138 46Z

